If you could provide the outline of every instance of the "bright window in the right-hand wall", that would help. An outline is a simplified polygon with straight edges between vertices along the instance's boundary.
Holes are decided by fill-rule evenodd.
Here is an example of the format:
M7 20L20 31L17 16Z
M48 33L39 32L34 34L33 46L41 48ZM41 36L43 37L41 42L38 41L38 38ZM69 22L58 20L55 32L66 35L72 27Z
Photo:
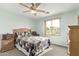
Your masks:
M45 21L45 34L47 36L60 35L60 19Z

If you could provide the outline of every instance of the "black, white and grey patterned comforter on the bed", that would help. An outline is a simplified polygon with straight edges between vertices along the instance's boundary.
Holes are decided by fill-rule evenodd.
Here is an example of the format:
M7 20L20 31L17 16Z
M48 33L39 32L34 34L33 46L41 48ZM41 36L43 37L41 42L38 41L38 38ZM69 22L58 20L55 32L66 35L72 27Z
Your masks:
M29 56L34 56L44 51L46 48L49 48L50 40L47 37L40 36L18 36L15 45L19 45L23 48L27 53L29 53Z

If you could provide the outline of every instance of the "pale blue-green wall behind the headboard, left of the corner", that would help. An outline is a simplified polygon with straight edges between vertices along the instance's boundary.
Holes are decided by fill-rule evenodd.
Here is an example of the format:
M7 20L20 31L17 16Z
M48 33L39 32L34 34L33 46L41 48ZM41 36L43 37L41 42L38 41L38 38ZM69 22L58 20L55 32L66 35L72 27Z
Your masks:
M0 10L0 34L12 33L12 30L16 28L30 28L35 30L34 27L33 19L5 10Z

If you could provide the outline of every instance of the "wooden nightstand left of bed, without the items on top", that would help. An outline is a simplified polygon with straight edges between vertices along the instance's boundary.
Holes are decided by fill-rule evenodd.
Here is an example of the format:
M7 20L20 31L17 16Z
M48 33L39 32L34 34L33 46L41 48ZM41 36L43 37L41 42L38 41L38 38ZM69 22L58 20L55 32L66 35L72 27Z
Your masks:
M2 40L1 52L5 52L14 48L14 38L6 38Z

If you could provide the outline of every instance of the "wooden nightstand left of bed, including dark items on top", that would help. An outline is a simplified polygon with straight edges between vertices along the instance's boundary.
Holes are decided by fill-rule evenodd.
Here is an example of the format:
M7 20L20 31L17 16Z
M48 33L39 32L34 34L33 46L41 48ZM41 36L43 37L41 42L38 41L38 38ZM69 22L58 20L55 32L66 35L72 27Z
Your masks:
M1 52L5 52L14 48L14 37L12 34L7 34L2 39Z

